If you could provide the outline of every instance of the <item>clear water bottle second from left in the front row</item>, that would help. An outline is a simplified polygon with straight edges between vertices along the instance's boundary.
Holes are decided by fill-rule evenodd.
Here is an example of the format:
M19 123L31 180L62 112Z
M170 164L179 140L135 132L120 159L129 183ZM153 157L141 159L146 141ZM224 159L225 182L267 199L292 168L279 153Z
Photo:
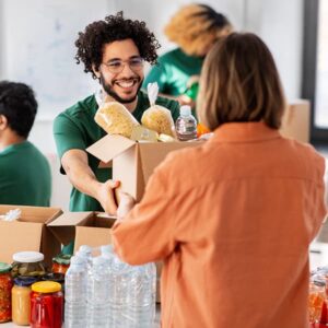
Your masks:
M109 308L109 274L107 260L102 256L94 258L87 274L87 328L109 327L109 317L112 317Z

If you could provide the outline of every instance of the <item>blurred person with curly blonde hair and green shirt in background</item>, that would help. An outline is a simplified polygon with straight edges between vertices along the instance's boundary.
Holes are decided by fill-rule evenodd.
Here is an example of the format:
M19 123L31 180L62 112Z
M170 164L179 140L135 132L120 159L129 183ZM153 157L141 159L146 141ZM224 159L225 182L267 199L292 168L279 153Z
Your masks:
M178 48L159 58L143 86L157 82L160 93L195 107L203 59L215 40L232 32L230 21L206 4L187 4L171 19L164 33Z

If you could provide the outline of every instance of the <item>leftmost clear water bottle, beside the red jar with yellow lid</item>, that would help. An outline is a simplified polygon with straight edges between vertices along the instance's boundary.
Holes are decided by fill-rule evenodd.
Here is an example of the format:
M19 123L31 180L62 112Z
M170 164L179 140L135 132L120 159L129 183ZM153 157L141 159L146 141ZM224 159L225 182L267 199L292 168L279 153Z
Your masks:
M85 327L86 320L86 263L73 256L65 276L65 327Z

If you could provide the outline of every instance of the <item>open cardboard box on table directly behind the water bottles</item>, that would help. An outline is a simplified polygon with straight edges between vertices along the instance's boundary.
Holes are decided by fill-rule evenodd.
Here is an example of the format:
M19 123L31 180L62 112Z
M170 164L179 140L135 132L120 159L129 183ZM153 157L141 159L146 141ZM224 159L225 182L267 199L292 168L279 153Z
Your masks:
M63 245L74 241L74 253L81 245L98 247L112 243L114 218L96 212L63 213L48 224L48 229Z

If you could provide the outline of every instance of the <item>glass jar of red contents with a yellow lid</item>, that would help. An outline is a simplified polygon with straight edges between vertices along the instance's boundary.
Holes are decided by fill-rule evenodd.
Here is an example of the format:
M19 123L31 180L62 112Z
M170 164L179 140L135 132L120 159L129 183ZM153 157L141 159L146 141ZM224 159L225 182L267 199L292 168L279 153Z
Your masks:
M61 328L63 296L61 285L54 281L39 281L32 285L31 327Z

